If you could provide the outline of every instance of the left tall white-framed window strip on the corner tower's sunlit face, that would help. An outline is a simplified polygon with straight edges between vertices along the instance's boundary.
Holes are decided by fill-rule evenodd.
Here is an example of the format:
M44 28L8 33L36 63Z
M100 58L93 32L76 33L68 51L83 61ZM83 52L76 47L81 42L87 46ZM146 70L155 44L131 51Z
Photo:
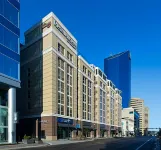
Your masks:
M64 61L58 58L58 114L64 115Z

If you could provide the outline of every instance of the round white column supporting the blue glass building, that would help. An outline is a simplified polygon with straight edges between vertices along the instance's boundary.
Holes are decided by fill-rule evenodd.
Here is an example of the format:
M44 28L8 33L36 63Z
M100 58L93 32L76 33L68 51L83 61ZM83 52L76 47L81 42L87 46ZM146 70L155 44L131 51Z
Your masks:
M16 124L14 113L16 112L16 89L8 90L8 143L16 143Z

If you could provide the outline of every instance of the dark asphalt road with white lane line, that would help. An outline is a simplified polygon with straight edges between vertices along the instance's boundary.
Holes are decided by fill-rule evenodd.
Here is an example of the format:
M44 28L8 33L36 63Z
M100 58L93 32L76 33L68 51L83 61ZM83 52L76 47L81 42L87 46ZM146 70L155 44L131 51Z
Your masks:
M100 139L90 142L30 148L30 150L153 150L155 137Z

